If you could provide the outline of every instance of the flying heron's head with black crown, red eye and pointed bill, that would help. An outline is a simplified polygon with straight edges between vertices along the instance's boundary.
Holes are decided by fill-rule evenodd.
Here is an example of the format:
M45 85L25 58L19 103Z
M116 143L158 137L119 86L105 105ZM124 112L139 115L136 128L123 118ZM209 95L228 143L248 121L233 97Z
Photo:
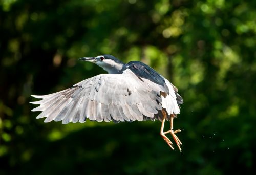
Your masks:
M112 55L99 55L96 57L84 57L79 60L93 62L103 68L109 74L121 73L124 63Z

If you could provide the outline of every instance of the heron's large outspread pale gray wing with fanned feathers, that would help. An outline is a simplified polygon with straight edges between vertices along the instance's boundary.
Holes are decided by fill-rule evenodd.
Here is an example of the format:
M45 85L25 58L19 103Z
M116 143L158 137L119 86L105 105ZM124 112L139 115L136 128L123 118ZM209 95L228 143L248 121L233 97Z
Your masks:
M162 110L161 92L165 93L163 86L127 69L123 74L97 75L54 94L32 95L42 100L31 103L40 104L32 111L41 111L37 118L46 117L45 122L142 121Z

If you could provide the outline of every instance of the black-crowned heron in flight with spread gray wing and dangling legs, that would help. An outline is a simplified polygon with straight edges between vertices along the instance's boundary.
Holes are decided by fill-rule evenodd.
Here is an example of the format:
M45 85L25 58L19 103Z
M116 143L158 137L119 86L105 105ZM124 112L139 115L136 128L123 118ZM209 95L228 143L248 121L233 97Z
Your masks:
M112 55L83 57L108 74L99 74L76 83L71 88L48 95L31 95L41 99L31 111L40 111L37 119L44 122L62 121L84 123L86 119L97 122L132 122L159 120L160 135L170 148L174 145L166 134L170 133L181 151L181 141L174 130L174 118L180 113L182 97L170 81L153 68L140 61L123 63ZM165 121L170 129L164 132Z

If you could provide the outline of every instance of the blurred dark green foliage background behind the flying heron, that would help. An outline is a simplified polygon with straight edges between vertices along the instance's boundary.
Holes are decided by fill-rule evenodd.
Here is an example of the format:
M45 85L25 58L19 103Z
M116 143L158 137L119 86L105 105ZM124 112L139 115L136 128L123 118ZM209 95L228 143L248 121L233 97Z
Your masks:
M255 174L256 1L0 2L0 174ZM183 152L159 121L44 123L30 95L141 60L178 88ZM166 124L166 128L168 125Z

